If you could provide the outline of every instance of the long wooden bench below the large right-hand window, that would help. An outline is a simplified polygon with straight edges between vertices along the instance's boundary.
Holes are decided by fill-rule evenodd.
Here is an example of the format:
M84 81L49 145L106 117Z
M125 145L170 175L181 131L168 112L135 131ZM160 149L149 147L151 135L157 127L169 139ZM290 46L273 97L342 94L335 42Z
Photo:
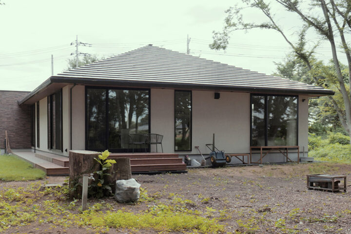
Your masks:
M289 158L288 152L289 150L297 150L297 163L300 163L300 147L298 145L292 145L292 146L285 146L285 145L280 145L280 146L250 146L250 161L251 163L260 163L262 164L262 158L264 158L268 153L270 153L273 150L279 151L283 156L286 157L286 162L291 161L291 162L296 162L292 161ZM260 160L257 162L252 161L252 154L253 151L259 151L260 152ZM263 155L263 151L266 150L265 154Z

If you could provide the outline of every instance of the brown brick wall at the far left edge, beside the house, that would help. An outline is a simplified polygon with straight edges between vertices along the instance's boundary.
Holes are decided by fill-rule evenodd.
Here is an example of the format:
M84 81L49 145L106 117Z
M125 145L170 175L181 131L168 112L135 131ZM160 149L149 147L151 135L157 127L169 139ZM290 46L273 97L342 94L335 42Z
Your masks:
M31 148L31 107L18 101L29 92L0 91L0 147L4 149L5 130L12 149Z

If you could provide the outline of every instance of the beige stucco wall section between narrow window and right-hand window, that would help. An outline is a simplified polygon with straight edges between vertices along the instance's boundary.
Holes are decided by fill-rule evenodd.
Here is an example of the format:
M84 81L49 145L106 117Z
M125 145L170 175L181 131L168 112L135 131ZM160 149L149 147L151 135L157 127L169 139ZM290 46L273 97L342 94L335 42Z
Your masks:
M248 153L250 146L250 94L213 91L193 91L193 151L199 146L202 154L212 143L226 153Z

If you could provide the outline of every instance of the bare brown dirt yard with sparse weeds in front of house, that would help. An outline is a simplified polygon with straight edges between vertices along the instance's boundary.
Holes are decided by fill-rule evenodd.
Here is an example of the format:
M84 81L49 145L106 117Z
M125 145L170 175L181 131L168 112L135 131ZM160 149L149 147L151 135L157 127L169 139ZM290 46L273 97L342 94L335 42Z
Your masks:
M104 199L115 210L135 214L148 207L188 199L187 209L217 218L229 233L351 233L350 191L331 193L306 188L307 174L346 175L349 164L312 163L190 169L187 174L134 175L153 198L149 203L119 204ZM59 181L58 178L52 179ZM43 183L45 180L40 181ZM51 183L50 182L50 183ZM348 184L351 184L348 181ZM24 182L2 182L1 187L24 187ZM348 187L349 189L350 187ZM67 201L66 201L67 202ZM80 202L80 200L78 201ZM101 200L90 200L90 205ZM5 233L89 233L83 228L53 228L36 222L11 227ZM109 233L157 233L153 230L116 230Z

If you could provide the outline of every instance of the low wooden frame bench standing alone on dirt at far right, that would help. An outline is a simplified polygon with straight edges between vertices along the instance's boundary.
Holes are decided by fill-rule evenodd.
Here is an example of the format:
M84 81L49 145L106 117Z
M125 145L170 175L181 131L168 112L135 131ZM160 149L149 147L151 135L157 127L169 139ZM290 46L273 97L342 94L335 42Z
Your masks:
M342 184L340 184L341 181L343 181ZM346 192L346 176L307 175L307 188L331 192L344 190Z

